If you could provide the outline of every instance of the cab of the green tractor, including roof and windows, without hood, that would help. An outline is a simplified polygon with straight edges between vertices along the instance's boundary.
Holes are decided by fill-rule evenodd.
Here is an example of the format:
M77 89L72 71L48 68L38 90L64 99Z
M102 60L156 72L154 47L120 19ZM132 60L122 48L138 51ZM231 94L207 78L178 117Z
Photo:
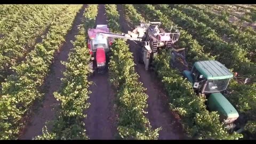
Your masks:
M218 61L195 62L191 71L185 70L183 74L195 90L206 94L225 91L229 79L233 78L233 74Z

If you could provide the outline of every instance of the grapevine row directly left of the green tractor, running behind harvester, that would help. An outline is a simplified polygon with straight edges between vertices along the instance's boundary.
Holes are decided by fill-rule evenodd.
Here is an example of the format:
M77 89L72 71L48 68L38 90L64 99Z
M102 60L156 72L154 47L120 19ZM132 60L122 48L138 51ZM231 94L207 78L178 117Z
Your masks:
M152 5L135 6L140 7L140 10L143 10L143 13L147 13L148 18L153 17L153 15L158 15L159 20L163 20L163 25L165 27L174 25L172 21L168 21L169 19L166 20L165 15L159 10L155 10L154 6ZM188 35L186 31L181 32L181 36ZM187 37L183 37L183 39L186 38ZM188 38L189 39L185 41L193 41L190 39L191 37ZM196 41L194 40L194 42ZM195 50L196 49L193 49L191 51ZM200 52L201 50L199 49L197 51ZM203 56L206 60L209 59L207 55ZM205 97L195 95L193 87L187 81L187 79L183 79L180 76L179 71L170 67L170 60L170 52L163 50L158 53L157 57L155 57L154 65L158 77L162 79L164 88L169 96L170 107L171 109L179 112L180 116L182 117L183 127L187 131L188 135L198 139L241 138L241 134L228 134L223 124L219 122L219 115L217 112L210 113L206 110L204 103L206 100ZM197 59L194 60L197 61Z

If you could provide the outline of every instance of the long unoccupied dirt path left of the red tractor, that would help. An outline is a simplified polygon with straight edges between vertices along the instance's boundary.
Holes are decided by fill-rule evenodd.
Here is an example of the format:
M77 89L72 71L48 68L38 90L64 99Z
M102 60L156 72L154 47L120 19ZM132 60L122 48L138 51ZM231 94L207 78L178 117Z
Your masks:
M60 89L61 80L63 77L63 71L65 66L61 64L61 61L68 60L68 53L73 49L73 44L70 41L75 41L75 35L78 34L77 26L81 24L85 5L77 13L73 22L73 26L66 35L65 42L62 43L60 50L54 57L53 64L49 76L45 78L45 85L49 87L44 95L43 106L30 118L30 122L26 126L26 129L20 139L33 139L37 135L42 134L42 128L46 121L52 121L55 118L57 112L57 106L59 101L54 98L53 92ZM49 127L48 127L49 128Z

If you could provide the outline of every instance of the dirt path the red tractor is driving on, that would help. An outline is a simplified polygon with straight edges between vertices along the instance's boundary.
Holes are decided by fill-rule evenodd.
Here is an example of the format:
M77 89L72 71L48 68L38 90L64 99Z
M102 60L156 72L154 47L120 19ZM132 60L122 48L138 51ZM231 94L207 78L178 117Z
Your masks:
M105 5L99 4L96 25L107 25ZM85 129L90 139L115 139L117 133L114 110L114 93L108 82L108 73L97 74L89 78L94 84L89 87L91 103L85 111Z

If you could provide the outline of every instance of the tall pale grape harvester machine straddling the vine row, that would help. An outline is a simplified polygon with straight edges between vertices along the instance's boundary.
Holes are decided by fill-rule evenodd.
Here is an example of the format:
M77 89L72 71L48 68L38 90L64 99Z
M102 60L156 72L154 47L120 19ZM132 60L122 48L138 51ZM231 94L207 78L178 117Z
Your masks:
M133 31L128 31L132 37L138 37L141 39L139 54L139 62L145 64L145 69L148 70L153 62L153 58L158 54L158 50L171 49L172 54L181 57L185 63L185 49L174 49L172 46L179 40L180 32L178 28L172 26L171 29L159 28L161 22L148 22L140 23L140 26L136 26ZM166 31L167 30L167 31ZM174 31L172 31L174 30ZM150 48L150 50L148 50ZM181 53L180 53L181 52ZM175 59L174 59L175 61Z

